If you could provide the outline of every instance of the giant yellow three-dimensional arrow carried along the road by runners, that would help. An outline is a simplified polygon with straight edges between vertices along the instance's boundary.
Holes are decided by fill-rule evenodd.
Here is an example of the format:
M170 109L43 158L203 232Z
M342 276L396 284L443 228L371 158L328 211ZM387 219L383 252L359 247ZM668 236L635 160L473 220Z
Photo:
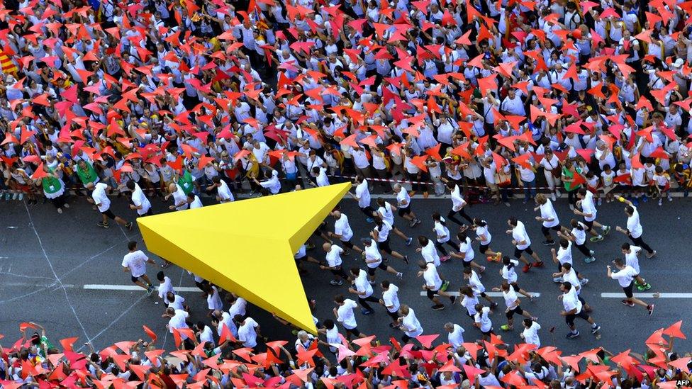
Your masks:
M316 334L293 254L349 188L337 184L137 222L150 252Z

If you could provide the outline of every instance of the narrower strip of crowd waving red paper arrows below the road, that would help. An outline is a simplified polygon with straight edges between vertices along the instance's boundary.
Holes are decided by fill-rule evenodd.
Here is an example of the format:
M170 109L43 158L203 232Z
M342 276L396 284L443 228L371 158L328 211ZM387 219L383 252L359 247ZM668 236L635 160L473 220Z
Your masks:
M464 342L456 329L411 344L383 343L374 336L348 342L328 332L326 338L302 332L295 344L274 341L232 353L233 337L220 344L192 337L194 349L169 354L145 327L151 339L101 350L86 344L90 351L79 352L73 348L77 338L61 339L56 347L43 327L26 322L11 348L0 347L0 384L5 389L688 388L678 383L689 383L690 356L673 349L674 338L685 337L680 325L654 332L644 354L598 347L567 356L552 346L510 346L501 337ZM322 354L318 345L331 354Z

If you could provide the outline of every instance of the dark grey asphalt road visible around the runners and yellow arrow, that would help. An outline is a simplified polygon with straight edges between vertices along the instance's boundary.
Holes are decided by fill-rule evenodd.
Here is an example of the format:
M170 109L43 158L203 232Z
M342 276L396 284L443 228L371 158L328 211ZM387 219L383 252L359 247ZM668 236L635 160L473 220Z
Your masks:
M152 200L155 210L164 212L164 204ZM77 344L89 341L96 347L103 347L113 342L145 337L142 325L152 328L162 346L171 348L172 337L168 336L165 324L167 320L160 317L164 310L157 298L147 298L141 291L113 290L117 286L131 286L128 274L121 268L123 255L127 252L126 244L130 239L141 239L136 230L128 232L115 223L108 230L96 227L99 215L91 210L91 205L84 198L73 198L71 208L58 215L50 204L26 206L18 201L0 202L0 334L4 334L4 343L14 342L18 337L18 325L21 322L39 322L48 329L51 339L78 336ZM445 198L415 198L413 210L420 216L423 223L411 229L403 220L397 218L396 223L406 234L416 237L420 234L432 237L432 220L430 214L434 210L447 213L451 201ZM654 259L640 259L642 276L652 283L653 288L648 293L689 293L678 295L678 298L644 298L656 304L654 315L649 317L640 307L628 308L620 303L620 298L603 298L601 293L620 293L622 290L614 280L605 278L605 266L616 256L620 256L620 244L627 239L615 232L603 242L590 244L596 251L597 261L584 264L581 254L573 250L575 268L589 278L582 297L593 307L593 317L603 328L601 337L588 333L588 325L577 320L581 337L575 340L564 339L567 326L559 316L562 303L557 300L559 291L557 284L552 282L550 274L554 265L549 263L549 247L540 242L540 225L533 218L535 213L529 205L521 201L513 201L510 208L502 205L474 205L467 210L471 216L481 216L489 221L493 235L492 247L502 252L511 252L511 238L505 235L506 220L515 216L525 221L533 241L534 249L548 266L544 269L533 269L529 274L519 274L520 285L528 291L540 293L534 302L523 301L522 307L539 318L542 330L542 344L553 344L566 353L576 353L596 346L619 352L625 349L642 351L644 340L654 330L667 327L678 320L686 320L692 307L692 291L690 278L692 270L689 261L689 237L692 227L690 200L676 198L672 203L664 203L659 207L655 203L640 205L640 215L644 226L644 239L657 249L658 256ZM566 225L571 218L567 201L560 200L556 204L562 224ZM349 215L355 231L355 239L366 237L372 225L365 222L362 213L355 202L345 200L342 209ZM133 220L135 214L127 208L125 198L113 199L113 211ZM603 204L598 208L598 220L609 225L624 225L625 215L620 203ZM333 220L328 219L330 228ZM453 230L456 225L450 223ZM314 238L313 238L314 239ZM321 241L315 241L317 247L310 253L317 259L323 259L320 248ZM415 262L420 254L415 252L415 239L411 247L406 247L402 239L392 237L392 247L408 254L411 264L404 264L398 259L391 259L390 264L405 273L402 281L394 276L389 278L400 286L399 298L401 303L410 305L425 329L425 334L442 333L445 322L456 322L462 325L466 339L475 339L479 332L471 326L471 320L459 305L447 307L442 311L430 310L430 301L420 295L422 278L416 278L418 271ZM477 247L474 245L474 247ZM476 251L479 263L485 259ZM359 256L352 254L345 259L345 265L364 266ZM488 267L482 281L486 288L498 286L501 277L497 264L485 263ZM303 285L310 297L317 298L318 305L315 314L320 320L333 317L332 297L336 293L347 293L346 286L330 286L331 274L320 271L317 266L307 264L308 273L303 276ZM457 261L448 261L440 266L443 278L452 281L450 291L457 291L462 286L462 266ZM152 279L155 269L149 269ZM166 269L176 286L194 287L193 280L186 271L175 266ZM384 272L377 274L377 281L386 277ZM84 285L96 286L99 289L85 289ZM112 286L111 286L112 285ZM113 287L116 286L116 287ZM381 291L376 287L376 295ZM197 291L181 293L192 306L192 319L208 322L206 317L206 300ZM665 294L663 296L666 296ZM495 300L503 308L501 298ZM364 316L357 312L359 329L367 334L377 334L385 337L400 337L401 332L390 329L387 325L384 307L376 306L374 315ZM263 332L270 339L292 339L290 329L279 325L266 312L250 308L250 315L262 325ZM505 322L502 310L492 315L496 332ZM555 327L554 334L549 329ZM520 328L520 319L515 320L515 328ZM519 331L503 333L507 342L520 342ZM690 323L684 322L683 332L689 331ZM443 339L446 338L442 334ZM678 342L678 347L691 349L691 340Z

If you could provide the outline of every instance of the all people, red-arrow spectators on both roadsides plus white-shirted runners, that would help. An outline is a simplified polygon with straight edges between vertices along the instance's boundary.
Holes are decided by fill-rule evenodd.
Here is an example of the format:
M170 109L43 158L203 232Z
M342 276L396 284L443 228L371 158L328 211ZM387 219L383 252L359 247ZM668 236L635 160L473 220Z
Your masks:
M631 244L622 245L622 259L607 276L623 287L624 305L652 315L654 305L633 295L634 288L651 288L637 255L657 254L642 239L637 205L663 205L673 200L671 191L687 196L692 186L688 4L6 0L1 7L5 201L50 201L64 213L73 197L86 196L101 214L99 227L112 220L131 229L133 218L152 213L154 198L186 210L201 207L200 196L224 203L241 193L269 196L352 180L352 197L374 225L354 231L349 218L357 215L337 208L333 228L325 223L311 242L325 254L305 246L296 253L299 266L317 262L333 274L334 286L343 286L333 298L334 317L316 318L318 337L296 330L295 346L264 342L245 300L199 276L211 319L192 322L185 298L159 270L167 327L184 350L180 361L162 359L155 336L86 356L64 342L60 353L42 334L28 336L26 329L37 327L29 323L21 342L4 349L4 386L67 380L62 385L107 388L146 380L161 388L185 381L384 388L408 380L421 388L644 388L688 378L682 362L689 359L659 347L672 343L661 333L644 356L580 354L593 363L588 369L577 367L576 357L540 349L537 312L520 306L519 295L532 293L518 283L518 269L552 261L565 336L580 336L576 318L598 334L579 295L588 279L575 269L581 265L572 249L586 264L595 261L587 244L611 231L597 207L621 201L627 224L614 228ZM396 199L373 201L373 191ZM447 213L411 204L416 194L447 191ZM561 222L553 202L562 194L574 217ZM128 197L133 212L113 213L112 195ZM535 203L536 215L507 220L515 250L503 254L491 248L488 222L466 206L510 206L514 195ZM410 235L428 216L434 236ZM395 227L396 218L409 229ZM551 258L532 247L525 226L532 218ZM420 256L392 249L391 236L415 242ZM124 271L154 293L146 266L155 261L135 242L128 249ZM345 269L342 256L352 252L362 255L362 266ZM503 283L493 291L502 293L504 309L485 293L479 256L498 262ZM452 258L464 265L458 293L447 291L450 282L437 272ZM481 341L464 343L464 328L450 322L449 342L431 346L416 312L398 300L395 282L415 279L401 271L409 261L418 262L431 309L462 305ZM359 331L355 310L371 315L371 304L384 305L401 343L381 344ZM506 323L493 325L493 312L502 310ZM526 344L512 352L498 329L520 331ZM336 359L325 358L325 349ZM618 368L603 365L609 359Z

